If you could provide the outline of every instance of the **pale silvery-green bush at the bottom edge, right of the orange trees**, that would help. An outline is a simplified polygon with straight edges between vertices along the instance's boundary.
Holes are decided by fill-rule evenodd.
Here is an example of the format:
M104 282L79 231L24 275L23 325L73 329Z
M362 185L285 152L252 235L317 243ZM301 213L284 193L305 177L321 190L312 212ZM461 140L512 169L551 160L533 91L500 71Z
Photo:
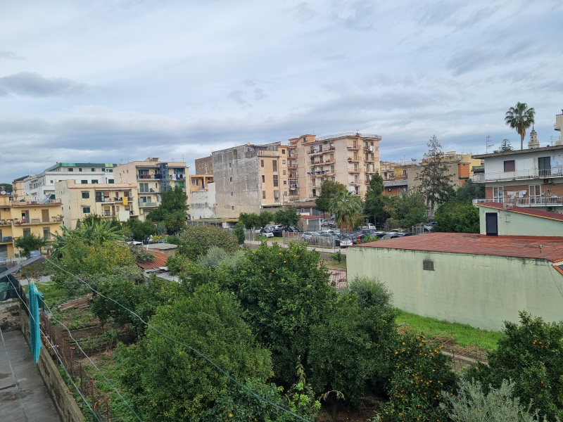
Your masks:
M514 383L502 380L500 388L491 388L486 395L479 381L464 378L457 384L457 395L444 395L440 407L453 422L536 422L537 414L530 406L514 397Z

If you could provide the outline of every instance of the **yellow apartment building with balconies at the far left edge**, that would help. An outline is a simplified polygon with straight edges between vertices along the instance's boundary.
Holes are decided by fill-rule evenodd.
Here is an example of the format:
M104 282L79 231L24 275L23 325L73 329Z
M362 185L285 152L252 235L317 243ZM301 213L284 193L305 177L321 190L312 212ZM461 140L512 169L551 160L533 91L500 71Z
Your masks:
M43 236L61 226L61 200L13 202L10 195L0 195L0 257L18 255L15 239L26 234Z

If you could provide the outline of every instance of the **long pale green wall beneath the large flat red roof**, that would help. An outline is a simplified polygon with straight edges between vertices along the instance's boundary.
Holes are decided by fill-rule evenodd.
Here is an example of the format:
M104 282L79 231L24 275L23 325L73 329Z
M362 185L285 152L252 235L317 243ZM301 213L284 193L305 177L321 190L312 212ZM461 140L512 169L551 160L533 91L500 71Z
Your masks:
M358 246L346 256L348 279L379 276L407 312L491 330L519 310L563 320L563 276L547 260Z

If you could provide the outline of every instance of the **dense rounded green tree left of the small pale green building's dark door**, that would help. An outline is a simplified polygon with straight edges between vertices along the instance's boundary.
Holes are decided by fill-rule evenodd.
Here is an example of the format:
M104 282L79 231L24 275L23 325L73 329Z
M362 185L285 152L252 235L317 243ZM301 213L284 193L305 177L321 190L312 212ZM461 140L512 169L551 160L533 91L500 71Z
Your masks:
M434 221L436 231L479 233L479 209L469 201L448 200L438 207Z

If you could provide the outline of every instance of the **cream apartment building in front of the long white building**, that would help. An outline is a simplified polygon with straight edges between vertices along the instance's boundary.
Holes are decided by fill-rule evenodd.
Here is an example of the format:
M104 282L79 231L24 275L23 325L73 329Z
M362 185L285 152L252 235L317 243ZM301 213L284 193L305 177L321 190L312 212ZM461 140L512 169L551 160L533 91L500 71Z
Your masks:
M120 222L139 218L136 183L77 184L64 180L55 184L55 194L61 199L63 224L68 229L75 229L78 220L91 214Z

